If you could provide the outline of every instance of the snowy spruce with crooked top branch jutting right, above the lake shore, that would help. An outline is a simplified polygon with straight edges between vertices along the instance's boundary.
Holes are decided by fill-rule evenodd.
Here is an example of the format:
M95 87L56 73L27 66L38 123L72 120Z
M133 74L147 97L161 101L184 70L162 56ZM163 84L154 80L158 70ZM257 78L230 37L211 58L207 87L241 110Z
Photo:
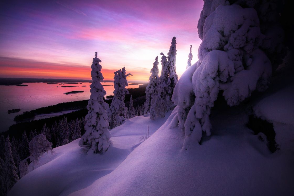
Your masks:
M128 119L128 108L126 107L124 100L125 95L128 94L128 76L132 74L126 74L126 67L114 72L114 96L110 104L108 111L108 122L110 129L121 125L121 123Z

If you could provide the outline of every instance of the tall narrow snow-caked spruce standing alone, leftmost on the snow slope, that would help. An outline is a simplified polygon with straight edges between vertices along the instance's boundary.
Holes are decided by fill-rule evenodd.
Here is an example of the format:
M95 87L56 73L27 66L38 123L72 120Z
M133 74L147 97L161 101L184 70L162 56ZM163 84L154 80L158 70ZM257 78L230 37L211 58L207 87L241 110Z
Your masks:
M99 64L100 62L101 60L97 58L96 52L91 65L93 82L90 86L91 96L87 105L88 114L85 117L86 132L78 143L86 152L92 151L95 154L107 151L111 144L111 134L108 129L109 124L106 112L109 105L103 100L106 91L104 91L100 83L104 79L101 73L102 66Z

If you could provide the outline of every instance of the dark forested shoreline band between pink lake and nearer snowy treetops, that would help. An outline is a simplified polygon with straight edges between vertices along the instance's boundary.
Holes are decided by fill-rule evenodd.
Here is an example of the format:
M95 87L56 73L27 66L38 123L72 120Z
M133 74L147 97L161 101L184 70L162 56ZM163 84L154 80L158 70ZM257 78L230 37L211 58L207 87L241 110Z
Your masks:
M137 114L142 115L143 111L143 104L145 103L146 97L145 97L145 85L141 85L139 88L129 88L129 94L125 97L125 103L126 106L129 107L129 101L130 97L132 95L133 97L133 105L136 108ZM111 104L110 100L105 100L106 103L109 105ZM81 100L81 101L72 101L72 102L66 102L66 103L59 103L56 105L50 105L43 108L37 108L35 110L31 110L29 112L24 112L23 114L17 115L15 117L15 121L18 122L15 125L11 125L9 129L6 132L2 132L1 134L4 135L4 137L7 137L8 135L10 138L15 137L15 139L21 139L21 136L24 131L26 131L26 134L29 134L32 131L36 131L37 133L40 133L44 124L46 123L47 127L51 127L54 125L55 122L59 122L61 119L66 118L69 122L71 120L76 120L76 118L82 119L86 116L88 113L88 110L86 109L88 105L88 100ZM38 114L48 114L48 113L56 113L66 110L77 110L71 113L67 113L60 116L40 119L40 120L32 120L34 119L35 115Z

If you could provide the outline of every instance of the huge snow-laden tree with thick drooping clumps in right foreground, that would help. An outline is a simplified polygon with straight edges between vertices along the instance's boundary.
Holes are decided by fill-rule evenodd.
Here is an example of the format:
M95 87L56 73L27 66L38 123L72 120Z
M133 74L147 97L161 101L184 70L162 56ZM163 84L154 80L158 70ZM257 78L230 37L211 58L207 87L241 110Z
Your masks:
M262 4L264 2L259 1L204 1L198 22L202 39L199 61L186 70L172 97L179 106L179 127L185 131L183 149L200 142L202 132L211 134L209 115L219 91L223 91L227 104L233 106L254 90L267 88L272 66L263 50L266 36L260 31L257 11L270 6ZM281 52L277 50L278 44L273 45L275 52Z

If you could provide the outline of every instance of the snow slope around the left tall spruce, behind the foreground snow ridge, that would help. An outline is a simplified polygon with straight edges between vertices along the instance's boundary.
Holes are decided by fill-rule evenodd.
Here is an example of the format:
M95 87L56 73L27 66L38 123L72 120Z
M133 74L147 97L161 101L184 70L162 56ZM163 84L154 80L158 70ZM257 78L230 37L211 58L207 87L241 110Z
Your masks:
M149 115L136 116L111 130L113 144L100 154L84 154L79 139L54 148L55 155L44 154L39 167L21 178L9 195L68 195L91 185L96 179L111 173L139 144L149 126L153 134L170 115L155 121ZM37 168L38 167L38 168Z

